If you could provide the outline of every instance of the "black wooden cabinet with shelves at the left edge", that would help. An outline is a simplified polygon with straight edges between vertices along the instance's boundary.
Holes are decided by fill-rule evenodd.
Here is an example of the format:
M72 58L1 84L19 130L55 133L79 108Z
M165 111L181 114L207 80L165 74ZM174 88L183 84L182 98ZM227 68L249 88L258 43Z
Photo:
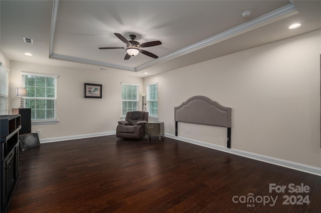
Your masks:
M19 130L21 115L0 116L0 211L7 212L19 179Z

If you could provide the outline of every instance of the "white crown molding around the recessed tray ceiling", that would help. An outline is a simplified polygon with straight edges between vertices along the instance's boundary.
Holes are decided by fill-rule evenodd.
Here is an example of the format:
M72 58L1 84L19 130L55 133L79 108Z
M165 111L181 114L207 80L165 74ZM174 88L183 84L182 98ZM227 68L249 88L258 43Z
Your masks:
M53 46L54 46L54 35L55 35L56 21L57 21L57 15L58 15L58 7L59 7L59 0L54 0L53 1L53 11L52 11L52 21L51 21L51 32L50 32L49 58L58 59L58 60L67 60L67 61L78 62L78 63L86 63L86 64L97 65L97 66L105 66L105 67L122 69L122 70L127 70L127 71L134 71L134 72L143 70L145 68L148 68L148 67L150 67L154 64L160 63L160 62L174 59L174 58L182 56L184 54L196 51L198 49L212 45L214 43L226 40L228 38L248 32L250 30L256 29L258 27L264 26L266 24L275 22L277 20L280 20L280 19L283 19L283 18L286 18L286 17L289 17L291 15L298 13L298 10L295 7L295 5L290 3L288 5L278 8L276 10L273 10L269 13L266 13L260 17L254 18L248 22L242 23L242 24L235 26L231 29L228 29L224 32L216 34L212 37L201 40L201 41L196 42L192 45L186 46L186 47L179 49L177 51L174 51L170 54L167 54L162 57L158 57L157 59L151 60L151 61L144 63L142 65L139 65L137 67L130 67L130 66L123 66L123 65L114 64L114 63L107 63L107 62L102 62L102 61L97 61L97 60L90 60L90 59L85 59L85 58L79 58L79 57L73 57L73 56L69 56L69 55L62 55L62 54L54 53Z

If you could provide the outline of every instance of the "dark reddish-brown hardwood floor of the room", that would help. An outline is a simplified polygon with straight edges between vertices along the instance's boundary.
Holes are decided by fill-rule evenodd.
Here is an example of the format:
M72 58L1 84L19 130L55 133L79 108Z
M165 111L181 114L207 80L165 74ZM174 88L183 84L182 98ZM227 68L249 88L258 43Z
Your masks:
M20 172L10 213L321 209L320 176L167 137L127 140L110 135L44 143L20 152ZM269 192L270 183L287 188ZM290 193L290 183L310 190ZM254 202L247 202L251 195ZM283 204L286 195L292 203L299 195L310 202ZM271 196L277 196L274 205L267 202Z

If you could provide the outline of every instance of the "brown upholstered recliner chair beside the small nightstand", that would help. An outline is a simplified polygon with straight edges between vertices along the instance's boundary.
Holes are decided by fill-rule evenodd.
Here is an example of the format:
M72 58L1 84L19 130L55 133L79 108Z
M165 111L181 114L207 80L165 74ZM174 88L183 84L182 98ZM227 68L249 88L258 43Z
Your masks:
M147 111L128 111L125 120L119 120L116 136L139 139L145 135L145 123L148 122Z

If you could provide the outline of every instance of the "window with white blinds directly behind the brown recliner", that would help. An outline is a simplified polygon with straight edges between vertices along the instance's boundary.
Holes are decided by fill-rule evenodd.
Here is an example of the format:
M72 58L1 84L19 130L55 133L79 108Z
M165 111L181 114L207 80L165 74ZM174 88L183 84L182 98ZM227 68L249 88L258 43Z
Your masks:
M138 84L121 83L121 115L126 116L127 111L138 110Z

